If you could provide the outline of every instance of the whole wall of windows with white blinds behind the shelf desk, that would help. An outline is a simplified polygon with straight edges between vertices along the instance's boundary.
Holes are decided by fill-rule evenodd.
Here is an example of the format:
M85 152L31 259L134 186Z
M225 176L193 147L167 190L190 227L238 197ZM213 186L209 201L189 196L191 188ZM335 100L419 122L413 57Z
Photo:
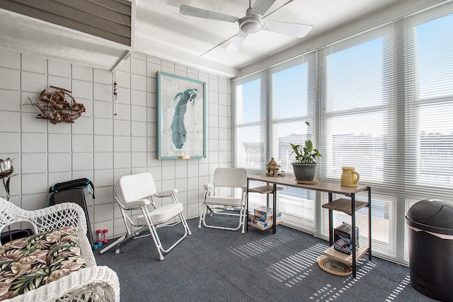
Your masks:
M453 8L444 4L235 81L236 165L264 173L273 157L292 175L289 142L304 142L309 121L323 155L316 178L339 181L341 167L354 166L372 187L374 254L407 264L408 208L453 202L452 33ZM323 193L279 194L285 223L327 238L325 202ZM350 216L334 212L342 221ZM357 226L366 243L366 209Z

